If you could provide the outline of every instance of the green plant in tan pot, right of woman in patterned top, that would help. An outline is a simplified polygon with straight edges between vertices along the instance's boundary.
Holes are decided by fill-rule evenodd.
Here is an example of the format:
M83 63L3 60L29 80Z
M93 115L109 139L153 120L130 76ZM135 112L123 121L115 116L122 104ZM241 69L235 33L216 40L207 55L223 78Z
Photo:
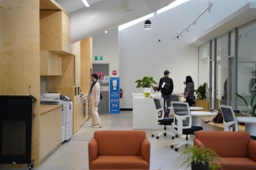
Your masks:
M209 111L209 101L206 99L206 82L201 84L197 90L195 90L197 99L195 100L195 105L198 107L203 107L203 111Z

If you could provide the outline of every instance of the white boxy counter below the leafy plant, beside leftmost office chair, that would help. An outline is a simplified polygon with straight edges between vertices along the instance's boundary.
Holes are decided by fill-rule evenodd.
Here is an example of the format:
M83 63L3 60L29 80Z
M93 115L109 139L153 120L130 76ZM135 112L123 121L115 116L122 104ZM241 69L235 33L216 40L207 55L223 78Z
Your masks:
M155 103L153 98L144 98L142 93L133 95L132 129L163 129L155 123Z

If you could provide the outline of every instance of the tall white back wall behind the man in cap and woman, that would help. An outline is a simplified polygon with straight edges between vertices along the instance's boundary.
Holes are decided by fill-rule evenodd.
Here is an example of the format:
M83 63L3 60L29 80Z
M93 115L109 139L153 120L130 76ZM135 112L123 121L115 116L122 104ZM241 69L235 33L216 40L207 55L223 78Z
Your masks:
M184 5L150 18L151 30L144 30L143 22L140 22L119 32L119 56L112 60L115 61L119 58L118 76L120 77L120 88L124 90L120 108L132 108L132 92L142 91L142 89L136 88L135 80L144 76L152 76L158 82L165 69L171 71L170 77L173 78L174 83L173 92L183 92L184 84L182 82L186 75L191 75L195 82L195 88L197 88L198 47L189 46L189 42L248 3L243 0L213 0L212 2L214 4L212 12L205 12L197 20L197 24L190 27L188 33L185 31L182 34L180 40L173 40L173 37L205 9L208 1L191 0ZM115 33L115 35L117 34ZM220 33L220 35L222 34L224 33ZM94 47L94 55L105 56L105 54L117 50L116 47L105 48L102 44L102 41L109 44L115 44L116 41L112 42L111 38L102 38L104 38L103 35L94 36L94 45L97 47ZM98 50L104 54L99 54Z

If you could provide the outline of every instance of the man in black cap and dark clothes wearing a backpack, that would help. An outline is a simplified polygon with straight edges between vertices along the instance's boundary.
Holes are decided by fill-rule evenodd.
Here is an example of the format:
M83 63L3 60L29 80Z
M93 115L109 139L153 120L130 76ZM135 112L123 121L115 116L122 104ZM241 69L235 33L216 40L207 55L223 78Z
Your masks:
M158 91L161 91L161 97L164 99L165 117L169 117L171 107L171 93L173 92L173 80L169 78L171 72L168 70L164 71L164 77L160 78Z

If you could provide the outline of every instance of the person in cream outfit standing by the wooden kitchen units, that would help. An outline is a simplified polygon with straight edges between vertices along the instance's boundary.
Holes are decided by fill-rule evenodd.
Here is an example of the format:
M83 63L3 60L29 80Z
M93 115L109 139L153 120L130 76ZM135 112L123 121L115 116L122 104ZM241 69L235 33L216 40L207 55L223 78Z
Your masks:
M88 126L100 128L102 126L98 114L98 104L100 103L100 84L98 83L98 75L96 73L92 74L91 79L93 80L93 83L89 90L88 103L90 105L92 124L89 124Z

